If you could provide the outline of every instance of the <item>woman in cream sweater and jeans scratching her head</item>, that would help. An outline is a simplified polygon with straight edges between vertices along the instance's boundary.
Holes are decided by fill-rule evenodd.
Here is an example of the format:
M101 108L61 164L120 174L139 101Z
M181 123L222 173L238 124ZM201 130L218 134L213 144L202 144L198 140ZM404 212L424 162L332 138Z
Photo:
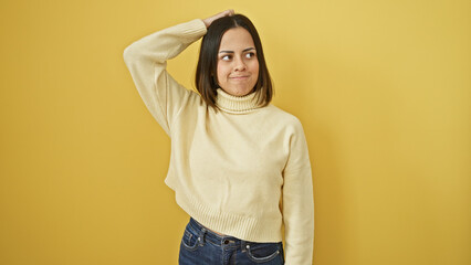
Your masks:
M167 73L166 61L201 36L198 94ZM181 23L134 42L124 60L171 139L165 182L190 215L179 264L312 264L307 145L299 119L270 104L250 20L228 10Z

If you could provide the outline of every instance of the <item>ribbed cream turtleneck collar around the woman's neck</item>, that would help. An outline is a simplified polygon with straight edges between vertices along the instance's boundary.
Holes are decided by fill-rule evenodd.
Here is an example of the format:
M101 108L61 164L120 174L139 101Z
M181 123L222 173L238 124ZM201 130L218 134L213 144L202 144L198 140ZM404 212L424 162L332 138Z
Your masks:
M222 88L218 88L217 93L216 106L227 113L245 114L255 110L263 105L257 103L257 92L252 92L245 96L232 96L226 93Z

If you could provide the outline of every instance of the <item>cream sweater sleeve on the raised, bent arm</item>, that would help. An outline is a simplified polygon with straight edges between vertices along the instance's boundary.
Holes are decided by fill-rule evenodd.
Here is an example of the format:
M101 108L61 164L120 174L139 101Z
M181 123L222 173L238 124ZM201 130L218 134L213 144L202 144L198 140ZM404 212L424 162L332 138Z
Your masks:
M167 60L177 56L207 32L200 19L157 31L135 41L123 57L147 109L170 136L171 125L191 94L166 71Z

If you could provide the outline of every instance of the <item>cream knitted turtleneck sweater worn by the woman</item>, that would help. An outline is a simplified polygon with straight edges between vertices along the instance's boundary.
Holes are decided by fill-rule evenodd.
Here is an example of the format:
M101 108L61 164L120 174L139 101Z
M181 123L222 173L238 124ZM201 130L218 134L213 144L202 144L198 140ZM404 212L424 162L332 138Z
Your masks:
M125 63L144 103L171 139L165 182L177 203L210 230L253 242L282 241L285 264L312 264L314 201L300 120L219 88L216 112L179 85L166 61L206 34L201 20L132 43Z

